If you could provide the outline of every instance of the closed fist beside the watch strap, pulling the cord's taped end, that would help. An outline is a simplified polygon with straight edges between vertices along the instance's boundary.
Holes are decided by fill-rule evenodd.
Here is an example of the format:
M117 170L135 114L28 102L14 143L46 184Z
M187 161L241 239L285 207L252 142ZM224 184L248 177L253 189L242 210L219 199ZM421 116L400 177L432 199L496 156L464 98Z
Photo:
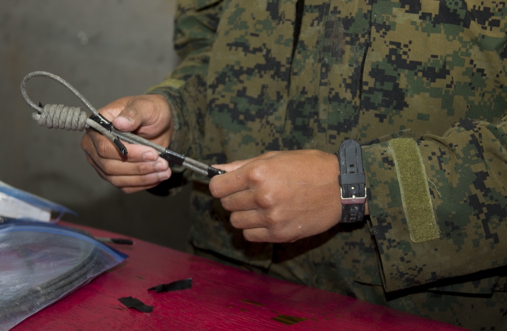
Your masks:
M219 165L214 197L250 241L291 242L324 232L341 219L337 157L317 150L268 152Z

